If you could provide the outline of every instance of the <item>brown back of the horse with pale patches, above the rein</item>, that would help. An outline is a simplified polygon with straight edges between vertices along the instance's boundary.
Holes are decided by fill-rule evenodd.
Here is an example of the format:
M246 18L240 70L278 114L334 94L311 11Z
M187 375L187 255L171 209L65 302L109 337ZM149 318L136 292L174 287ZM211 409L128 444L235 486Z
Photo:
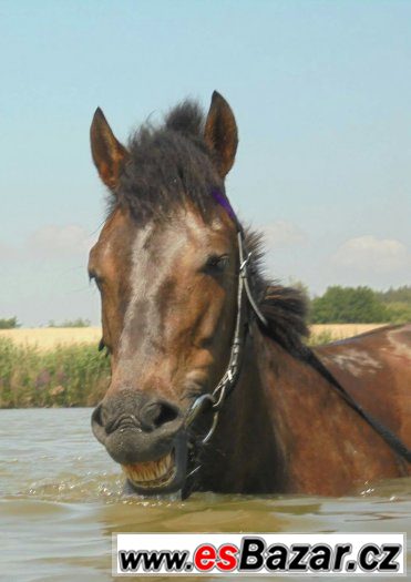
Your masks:
M411 324L319 346L315 353L367 411L411 447Z

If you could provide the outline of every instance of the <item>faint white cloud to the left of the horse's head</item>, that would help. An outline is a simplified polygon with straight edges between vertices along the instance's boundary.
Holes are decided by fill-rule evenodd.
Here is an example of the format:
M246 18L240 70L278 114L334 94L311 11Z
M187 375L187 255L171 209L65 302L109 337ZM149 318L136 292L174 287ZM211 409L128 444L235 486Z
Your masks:
M84 255L92 245L91 236L79 225L47 225L27 239L30 252L47 257L70 257Z

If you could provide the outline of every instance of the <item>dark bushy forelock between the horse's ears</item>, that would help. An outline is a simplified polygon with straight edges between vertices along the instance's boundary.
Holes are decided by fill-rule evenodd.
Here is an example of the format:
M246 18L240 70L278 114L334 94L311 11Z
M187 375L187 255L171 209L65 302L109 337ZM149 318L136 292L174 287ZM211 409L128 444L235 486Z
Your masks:
M187 201L207 216L213 207L210 191L224 192L224 184L203 130L204 114L193 101L174 108L161 126L142 125L130 139L130 160L114 204L129 207L138 224L166 219Z

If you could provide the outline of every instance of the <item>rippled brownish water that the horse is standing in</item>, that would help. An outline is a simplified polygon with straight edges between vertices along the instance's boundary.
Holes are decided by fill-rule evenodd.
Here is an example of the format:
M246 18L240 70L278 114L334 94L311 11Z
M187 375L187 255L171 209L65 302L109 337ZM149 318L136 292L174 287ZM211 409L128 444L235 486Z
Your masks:
M112 580L111 533L121 531L408 532L411 541L411 479L369 483L342 499L124 497L90 413L0 410L1 580Z

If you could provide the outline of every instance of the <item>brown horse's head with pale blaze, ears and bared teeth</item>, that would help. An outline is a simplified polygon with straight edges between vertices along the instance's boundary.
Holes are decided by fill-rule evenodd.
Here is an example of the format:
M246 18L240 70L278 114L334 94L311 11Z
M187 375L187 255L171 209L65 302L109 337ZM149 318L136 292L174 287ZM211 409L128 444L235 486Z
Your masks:
M109 217L90 252L101 293L111 384L92 415L95 437L140 493L179 490L193 402L230 360L237 318L238 225L225 195L237 127L213 94L206 119L184 102L127 147L102 111L92 156L110 191ZM212 411L197 430L207 432Z

